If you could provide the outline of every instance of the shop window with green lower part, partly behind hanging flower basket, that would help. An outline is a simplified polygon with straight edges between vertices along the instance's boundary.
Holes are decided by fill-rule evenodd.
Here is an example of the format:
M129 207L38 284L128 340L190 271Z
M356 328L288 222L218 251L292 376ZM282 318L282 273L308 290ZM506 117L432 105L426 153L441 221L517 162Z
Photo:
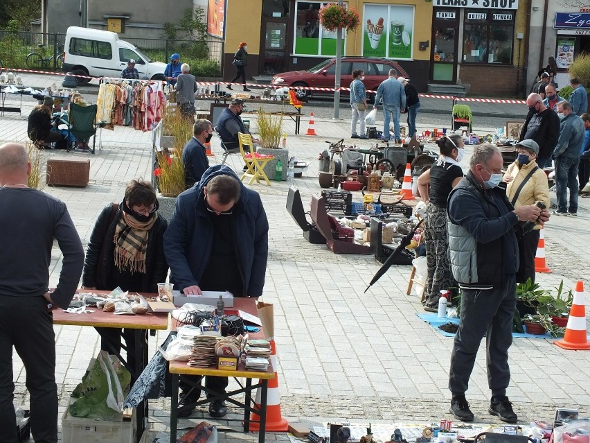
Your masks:
M325 1L296 2L295 55L336 55L336 33L323 29L318 17L320 8L327 4Z

